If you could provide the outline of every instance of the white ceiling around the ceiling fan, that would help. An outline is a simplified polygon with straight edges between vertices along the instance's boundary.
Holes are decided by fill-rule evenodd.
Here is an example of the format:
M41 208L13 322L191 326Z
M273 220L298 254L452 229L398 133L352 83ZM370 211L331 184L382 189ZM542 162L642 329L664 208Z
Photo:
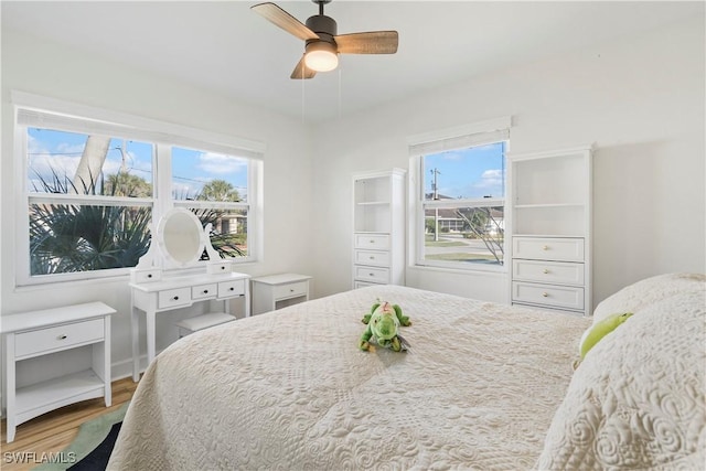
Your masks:
M300 40L250 11L258 1L8 1L2 28L317 122L512 64L704 17L704 2L344 1L339 34L397 30L395 55L344 55L292 81ZM309 0L277 4L304 22Z

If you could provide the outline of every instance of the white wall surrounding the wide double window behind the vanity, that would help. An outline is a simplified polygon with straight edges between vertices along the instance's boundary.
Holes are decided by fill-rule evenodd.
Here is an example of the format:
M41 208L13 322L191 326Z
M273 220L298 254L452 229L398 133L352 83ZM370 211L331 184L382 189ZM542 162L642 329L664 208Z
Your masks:
M113 361L125 373L131 357L127 277L33 288L14 287L14 201L12 107L10 90L19 89L66 101L101 107L167 122L265 142L265 259L237 269L250 275L312 272L311 129L300 120L235 103L223 96L113 63L100 56L2 31L2 314L99 300L118 310L113 320ZM287 243L282 244L281 240ZM170 325L169 320L162 320ZM164 329L163 346L175 335Z

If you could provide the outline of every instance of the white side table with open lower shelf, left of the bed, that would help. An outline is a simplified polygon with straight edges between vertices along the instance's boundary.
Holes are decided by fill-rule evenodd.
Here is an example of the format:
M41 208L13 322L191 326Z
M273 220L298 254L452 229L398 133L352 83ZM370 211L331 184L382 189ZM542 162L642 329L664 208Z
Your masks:
M24 312L2 318L6 338L7 439L14 440L18 425L50 410L110 392L110 315L103 302ZM17 368L23 360L93 345L88 370L17 388Z

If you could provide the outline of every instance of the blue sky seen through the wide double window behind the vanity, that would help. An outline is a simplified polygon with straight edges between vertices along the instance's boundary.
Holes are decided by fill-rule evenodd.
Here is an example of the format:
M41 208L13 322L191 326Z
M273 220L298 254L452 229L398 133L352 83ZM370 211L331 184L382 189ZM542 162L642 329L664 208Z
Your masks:
M58 175L73 176L84 147L86 135L28 129L30 189L38 182L36 173L50 179L52 170ZM104 174L117 173L124 167L129 173L152 181L152 146L145 142L111 139L103 167ZM127 152L122 152L127 150ZM176 197L192 196L204 183L225 180L242 196L247 188L247 160L190 149L172 149L172 190Z

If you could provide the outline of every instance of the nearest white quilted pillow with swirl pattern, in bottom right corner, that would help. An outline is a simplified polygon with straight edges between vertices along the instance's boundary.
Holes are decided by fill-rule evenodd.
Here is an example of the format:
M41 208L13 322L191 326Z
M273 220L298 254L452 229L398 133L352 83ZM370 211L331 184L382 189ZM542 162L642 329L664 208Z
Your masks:
M536 469L704 469L706 292L633 315L574 373Z

